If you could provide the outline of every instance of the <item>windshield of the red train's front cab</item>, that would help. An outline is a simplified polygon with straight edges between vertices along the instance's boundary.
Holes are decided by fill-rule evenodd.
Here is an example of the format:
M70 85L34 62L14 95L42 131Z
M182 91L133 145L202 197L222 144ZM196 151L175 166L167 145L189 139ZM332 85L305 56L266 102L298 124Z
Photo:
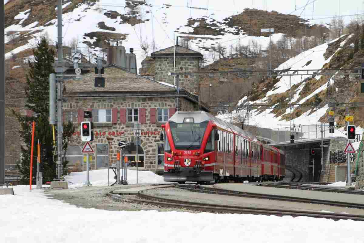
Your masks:
M201 148L203 134L207 128L207 121L201 123L170 122L175 149L193 150Z

